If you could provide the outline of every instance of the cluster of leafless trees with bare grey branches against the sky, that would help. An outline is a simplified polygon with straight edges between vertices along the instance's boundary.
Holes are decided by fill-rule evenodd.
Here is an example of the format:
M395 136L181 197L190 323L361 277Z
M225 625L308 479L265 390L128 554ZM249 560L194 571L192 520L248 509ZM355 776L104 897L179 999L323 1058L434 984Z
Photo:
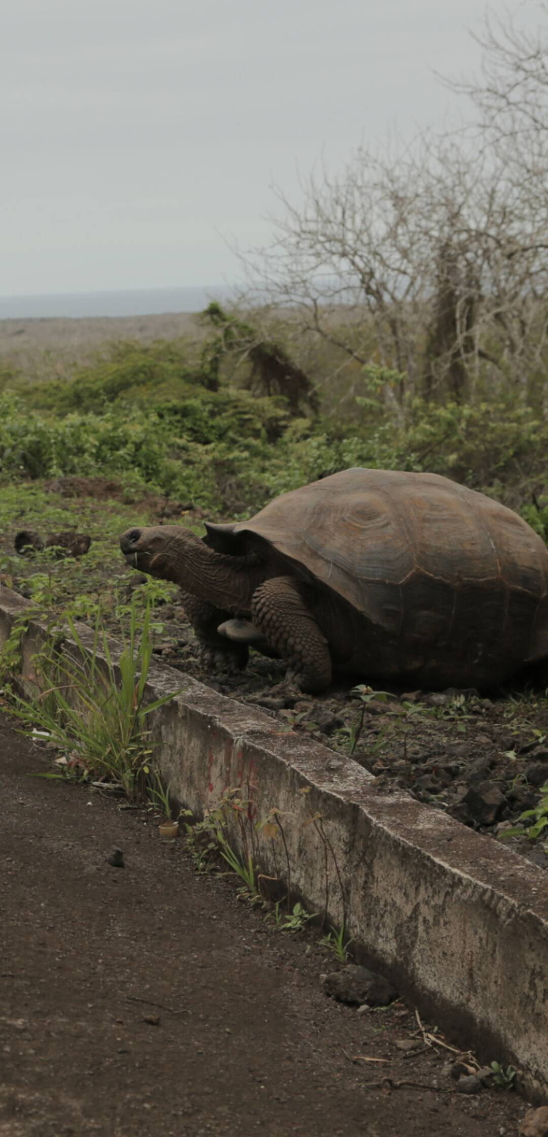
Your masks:
M243 257L246 304L290 313L334 370L388 368L396 409L406 390L525 400L546 371L548 39L508 20L480 42L473 130L360 148L299 205L277 190L272 244Z

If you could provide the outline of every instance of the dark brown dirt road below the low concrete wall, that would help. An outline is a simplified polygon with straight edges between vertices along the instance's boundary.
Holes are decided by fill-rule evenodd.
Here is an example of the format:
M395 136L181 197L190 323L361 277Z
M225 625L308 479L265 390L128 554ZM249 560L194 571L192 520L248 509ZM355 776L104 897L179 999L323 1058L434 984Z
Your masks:
M0 715L0 1137L516 1135L525 1103L382 980L43 771Z

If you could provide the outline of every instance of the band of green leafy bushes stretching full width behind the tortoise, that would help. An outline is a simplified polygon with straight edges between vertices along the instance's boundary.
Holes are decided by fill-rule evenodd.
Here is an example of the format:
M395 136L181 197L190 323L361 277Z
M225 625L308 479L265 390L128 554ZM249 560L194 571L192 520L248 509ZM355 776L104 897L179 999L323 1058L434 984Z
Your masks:
M202 352L204 355L204 352ZM385 399L401 376L363 368L342 420L292 417L281 397L221 380L184 343L118 343L69 381L0 396L0 468L11 478L132 475L210 512L244 516L349 466L433 471L520 509L545 539L548 424L516 398ZM390 390L388 390L390 389Z

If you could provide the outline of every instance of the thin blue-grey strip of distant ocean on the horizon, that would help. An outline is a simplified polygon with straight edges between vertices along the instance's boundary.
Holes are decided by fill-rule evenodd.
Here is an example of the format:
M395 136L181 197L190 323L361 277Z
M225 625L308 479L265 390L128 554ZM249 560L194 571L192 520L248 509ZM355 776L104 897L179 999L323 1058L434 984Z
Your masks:
M85 316L155 316L202 312L226 288L155 288L128 292L72 292L51 296L0 296L0 319L82 318Z

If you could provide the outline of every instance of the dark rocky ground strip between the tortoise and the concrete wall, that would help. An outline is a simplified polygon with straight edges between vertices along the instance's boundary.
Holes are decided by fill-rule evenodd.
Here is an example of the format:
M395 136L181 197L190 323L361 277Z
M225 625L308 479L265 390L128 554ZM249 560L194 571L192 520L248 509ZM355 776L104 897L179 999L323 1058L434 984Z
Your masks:
M542 833L535 840L505 837L520 828L522 813L534 810L548 782L548 698L542 687L485 697L472 689L392 687L375 692L339 683L322 696L299 696L284 688L282 665L256 653L244 672L205 674L184 611L165 606L163 619L166 634L156 650L171 666L261 707L288 730L351 755L375 777L548 868ZM524 820L521 828L534 821Z

